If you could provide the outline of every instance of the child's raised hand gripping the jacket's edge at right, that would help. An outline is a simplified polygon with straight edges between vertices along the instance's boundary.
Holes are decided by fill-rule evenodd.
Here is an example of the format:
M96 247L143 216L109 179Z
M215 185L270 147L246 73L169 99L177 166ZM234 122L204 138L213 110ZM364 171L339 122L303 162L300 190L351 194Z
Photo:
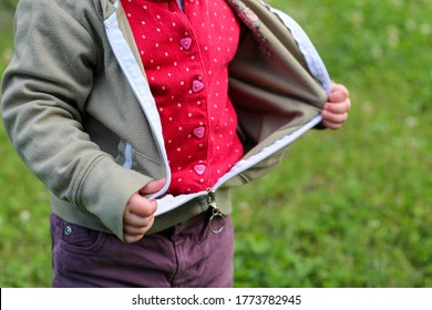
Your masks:
M350 108L351 101L347 87L332 83L328 102L321 111L322 125L330 130L339 130L348 120Z

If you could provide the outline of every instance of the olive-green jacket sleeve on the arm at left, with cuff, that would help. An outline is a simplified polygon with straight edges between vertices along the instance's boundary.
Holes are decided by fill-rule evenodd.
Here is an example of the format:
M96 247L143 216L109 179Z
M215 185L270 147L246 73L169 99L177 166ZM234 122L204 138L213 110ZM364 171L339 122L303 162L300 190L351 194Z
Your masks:
M18 154L50 190L123 238L126 203L150 177L115 163L83 130L101 51L97 25L86 22L99 21L96 13L80 2L88 1L20 2L2 117Z

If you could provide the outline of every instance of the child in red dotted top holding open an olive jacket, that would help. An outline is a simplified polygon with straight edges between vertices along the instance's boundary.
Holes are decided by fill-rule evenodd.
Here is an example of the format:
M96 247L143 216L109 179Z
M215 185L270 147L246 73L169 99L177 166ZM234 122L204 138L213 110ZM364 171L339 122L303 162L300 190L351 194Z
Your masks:
M244 2L287 20L254 0L20 1L2 117L52 193L54 287L232 287L229 187L271 169L285 146L263 151L315 115L347 120L343 85L278 76Z

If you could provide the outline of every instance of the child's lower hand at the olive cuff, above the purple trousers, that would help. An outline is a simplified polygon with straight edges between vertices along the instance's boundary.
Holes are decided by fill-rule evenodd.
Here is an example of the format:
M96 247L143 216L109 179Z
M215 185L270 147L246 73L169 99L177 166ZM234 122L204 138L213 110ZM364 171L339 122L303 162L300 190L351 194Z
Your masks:
M153 194L165 185L165 179L152 180L135 193L127 202L123 214L123 236L126 244L141 240L153 226L154 213L157 208L155 200L148 200L140 194Z

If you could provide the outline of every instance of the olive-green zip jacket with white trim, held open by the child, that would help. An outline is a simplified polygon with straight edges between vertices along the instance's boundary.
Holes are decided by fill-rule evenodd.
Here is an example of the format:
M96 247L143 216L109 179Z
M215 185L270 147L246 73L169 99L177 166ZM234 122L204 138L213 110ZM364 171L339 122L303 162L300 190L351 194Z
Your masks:
M229 214L228 188L269 172L320 122L330 83L301 28L261 1L226 1L249 29L229 66L244 158L208 190L173 197L164 195L171 173L158 113L120 1L21 0L2 117L50 188L53 213L123 239L127 200L164 177L150 197L158 202L152 231L204 211L215 192Z

